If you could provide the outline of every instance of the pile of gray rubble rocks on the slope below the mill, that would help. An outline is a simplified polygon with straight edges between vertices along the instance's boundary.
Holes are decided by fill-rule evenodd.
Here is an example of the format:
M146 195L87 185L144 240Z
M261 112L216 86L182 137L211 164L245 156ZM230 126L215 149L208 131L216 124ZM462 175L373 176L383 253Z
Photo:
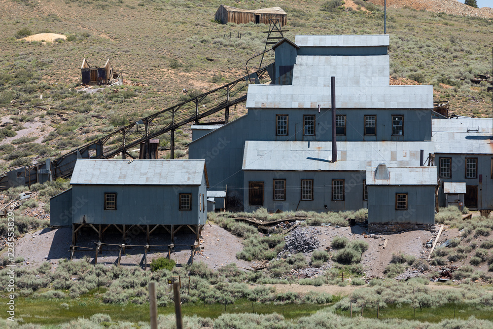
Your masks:
M317 239L317 235L320 234L322 234L320 229L312 227L294 229L291 234L284 237L286 244L278 257L281 257L283 254L293 255L303 253L306 255L313 252L320 246L320 241Z

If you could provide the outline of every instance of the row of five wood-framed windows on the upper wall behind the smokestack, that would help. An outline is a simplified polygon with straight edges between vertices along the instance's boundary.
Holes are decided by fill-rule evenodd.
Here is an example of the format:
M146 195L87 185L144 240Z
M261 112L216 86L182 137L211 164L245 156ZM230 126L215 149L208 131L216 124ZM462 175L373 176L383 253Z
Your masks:
M315 136L315 115L303 115L303 136ZM276 114L276 135L288 136L289 115ZM346 115L336 115L336 135L346 136ZM364 136L377 134L377 116L365 115ZM404 135L404 115L392 115L392 136Z

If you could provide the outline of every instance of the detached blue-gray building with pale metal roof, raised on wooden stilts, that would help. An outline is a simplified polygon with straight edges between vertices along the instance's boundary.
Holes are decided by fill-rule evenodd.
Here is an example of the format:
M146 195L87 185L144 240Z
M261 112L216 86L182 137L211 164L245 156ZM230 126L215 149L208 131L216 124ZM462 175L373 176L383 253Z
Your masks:
M72 226L74 234L88 225L100 238L114 226L125 239L134 225L147 236L158 226L172 239L180 227L198 236L207 219L207 182L204 160L77 159L72 188L50 199L50 224Z

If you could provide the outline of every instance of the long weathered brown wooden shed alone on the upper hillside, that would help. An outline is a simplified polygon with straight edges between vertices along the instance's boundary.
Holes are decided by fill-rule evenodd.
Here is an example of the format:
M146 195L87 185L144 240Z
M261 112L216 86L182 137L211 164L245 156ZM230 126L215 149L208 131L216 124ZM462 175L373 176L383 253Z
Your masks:
M217 9L214 19L226 24L228 22L236 24L246 24L253 22L255 24L270 24L270 19L279 19L281 26L287 23L287 14L280 7L263 8L255 10L246 10L221 4Z

